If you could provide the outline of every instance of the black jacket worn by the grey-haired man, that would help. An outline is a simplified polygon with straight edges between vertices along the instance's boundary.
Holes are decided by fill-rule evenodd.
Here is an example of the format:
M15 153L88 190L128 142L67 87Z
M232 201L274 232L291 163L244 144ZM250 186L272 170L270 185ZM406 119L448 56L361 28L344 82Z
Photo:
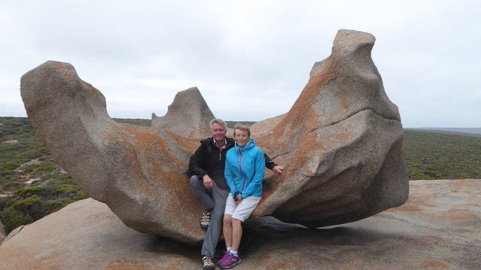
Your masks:
M225 154L234 147L235 141L228 137L225 138L227 147L220 152L219 148L214 146L212 137L202 140L201 146L190 156L189 170L185 174L189 177L196 175L199 179L209 175L219 187L228 188L224 178ZM266 167L272 170L276 164L267 154L264 154L264 158L266 159Z

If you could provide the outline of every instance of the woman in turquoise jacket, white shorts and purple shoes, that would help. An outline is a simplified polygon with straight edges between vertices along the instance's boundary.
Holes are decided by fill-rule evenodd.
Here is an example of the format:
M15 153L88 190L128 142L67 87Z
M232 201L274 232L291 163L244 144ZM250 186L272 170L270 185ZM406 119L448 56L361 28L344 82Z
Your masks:
M241 222L261 201L266 166L262 150L250 138L248 126L237 123L234 139L234 148L226 153L224 171L230 193L226 201L223 228L227 251L218 263L220 268L232 268L241 263L238 253L242 237Z

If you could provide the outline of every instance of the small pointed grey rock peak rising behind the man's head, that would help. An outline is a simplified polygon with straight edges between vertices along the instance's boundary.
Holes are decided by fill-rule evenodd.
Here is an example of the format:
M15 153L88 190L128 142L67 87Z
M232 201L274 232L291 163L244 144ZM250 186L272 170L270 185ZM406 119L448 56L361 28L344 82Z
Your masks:
M208 123L214 115L197 87L178 92L163 117L152 113L153 128L165 128L189 139L210 137Z

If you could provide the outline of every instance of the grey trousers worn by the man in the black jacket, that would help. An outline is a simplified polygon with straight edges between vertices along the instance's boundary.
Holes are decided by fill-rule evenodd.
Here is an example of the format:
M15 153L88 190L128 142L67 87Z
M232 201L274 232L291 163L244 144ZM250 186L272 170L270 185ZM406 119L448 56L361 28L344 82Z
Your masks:
M201 255L214 258L215 247L222 233L225 202L229 190L220 188L216 184L213 184L212 188L206 189L204 181L196 175L190 178L190 186L196 200L201 204L201 208L210 210L210 224L204 238Z

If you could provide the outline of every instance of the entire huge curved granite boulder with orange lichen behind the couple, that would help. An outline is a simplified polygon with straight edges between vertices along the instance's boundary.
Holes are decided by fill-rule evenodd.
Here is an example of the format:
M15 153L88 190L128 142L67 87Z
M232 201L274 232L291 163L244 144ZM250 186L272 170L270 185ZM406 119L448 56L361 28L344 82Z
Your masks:
M287 165L277 178L267 174L254 218L319 227L406 201L402 125L371 59L373 45L369 33L340 30L331 56L311 72L291 110L253 126L259 146ZM208 136L201 129L209 119L196 114L212 117L197 89L178 93L152 127L113 121L102 93L69 63L47 61L27 72L21 95L36 133L62 168L127 226L188 243L203 239L200 208L182 175L197 137ZM193 96L200 105L182 108ZM185 117L174 114L183 111Z

